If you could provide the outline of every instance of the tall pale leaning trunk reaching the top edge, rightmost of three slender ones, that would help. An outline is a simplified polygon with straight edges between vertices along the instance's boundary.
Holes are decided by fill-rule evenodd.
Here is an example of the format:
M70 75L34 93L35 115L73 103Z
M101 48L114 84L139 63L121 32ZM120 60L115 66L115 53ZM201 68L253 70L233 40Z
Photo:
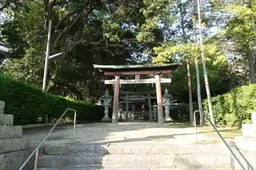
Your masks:
M200 35L200 50L201 50L201 57L202 57L202 63L203 63L203 71L204 71L204 82L205 82L205 88L206 88L206 94L208 99L208 109L210 114L210 120L212 124L215 124L214 121L214 113L212 113L212 106L211 106L211 99L210 99L210 87L208 82L208 76L207 76L207 69L206 69L206 63L205 63L205 57L204 57L204 46L203 46L203 35L202 35L202 25L201 25L201 12L200 12L200 0L197 0L197 8L198 8L198 27L199 27L199 35Z

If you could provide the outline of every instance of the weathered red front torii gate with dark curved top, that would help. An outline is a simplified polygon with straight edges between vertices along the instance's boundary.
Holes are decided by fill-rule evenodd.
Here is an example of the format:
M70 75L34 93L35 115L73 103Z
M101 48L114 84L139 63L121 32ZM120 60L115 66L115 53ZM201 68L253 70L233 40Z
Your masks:
M156 83L158 124L163 124L163 106L161 83L170 83L171 79L161 79L161 74L170 74L177 69L180 62L165 65L93 65L105 75L115 76L114 80L105 80L105 84L114 84L114 101L112 123L118 124L119 88L120 84ZM120 80L120 75L135 75L135 80ZM140 75L155 75L155 79L140 79Z

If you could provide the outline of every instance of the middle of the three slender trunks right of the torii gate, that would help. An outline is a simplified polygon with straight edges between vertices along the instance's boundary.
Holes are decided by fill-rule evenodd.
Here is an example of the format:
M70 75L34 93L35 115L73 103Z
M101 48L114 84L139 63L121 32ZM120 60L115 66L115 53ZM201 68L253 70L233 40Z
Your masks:
M193 17L193 32L194 32L194 41L195 41L194 44L195 46L197 46L196 25L195 25L194 17ZM200 85L200 75L199 75L197 56L195 58L195 68L196 68L196 76L197 76L197 100L198 100L198 107L200 110L200 127L204 127L204 115L202 112L203 106L202 106L202 98L201 98L201 85Z

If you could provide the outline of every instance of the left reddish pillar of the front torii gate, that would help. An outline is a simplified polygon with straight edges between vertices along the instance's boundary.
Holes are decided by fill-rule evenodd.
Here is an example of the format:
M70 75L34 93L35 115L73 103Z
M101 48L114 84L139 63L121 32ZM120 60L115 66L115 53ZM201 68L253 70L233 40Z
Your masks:
M120 75L115 74L115 89L114 89L112 124L118 124L119 83L120 83Z

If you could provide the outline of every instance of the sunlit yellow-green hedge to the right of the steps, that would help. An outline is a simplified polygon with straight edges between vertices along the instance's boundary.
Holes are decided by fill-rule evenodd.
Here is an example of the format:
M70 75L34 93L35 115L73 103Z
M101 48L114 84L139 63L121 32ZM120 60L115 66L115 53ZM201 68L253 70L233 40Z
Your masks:
M256 84L232 89L229 93L211 98L215 123L223 126L240 126L251 123L251 112L256 110ZM209 115L208 100L203 102Z

